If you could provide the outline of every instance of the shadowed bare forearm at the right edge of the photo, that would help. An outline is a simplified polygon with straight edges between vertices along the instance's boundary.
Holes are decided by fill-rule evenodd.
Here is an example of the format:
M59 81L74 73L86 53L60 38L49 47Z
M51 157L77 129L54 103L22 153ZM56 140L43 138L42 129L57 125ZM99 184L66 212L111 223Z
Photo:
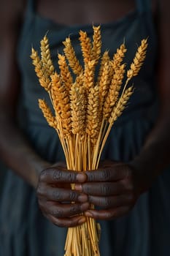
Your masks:
M146 173L150 180L160 175L170 164L170 116L161 114L148 135L139 155L131 162L136 170Z

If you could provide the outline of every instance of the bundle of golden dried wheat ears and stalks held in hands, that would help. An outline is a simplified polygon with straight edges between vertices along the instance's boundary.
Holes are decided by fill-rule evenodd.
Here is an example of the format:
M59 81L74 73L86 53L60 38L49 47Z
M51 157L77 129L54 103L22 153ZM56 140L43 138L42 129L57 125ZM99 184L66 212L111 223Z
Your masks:
M58 133L67 168L81 171L96 170L112 125L123 112L134 91L133 86L127 86L142 67L146 56L147 39L142 40L127 72L125 64L122 64L126 52L124 43L112 59L108 51L101 56L100 26L93 26L93 42L86 32L80 31L84 67L80 65L69 37L63 45L63 55L58 53L60 74L55 72L47 36L41 41L41 58L32 48L31 59L36 75L50 96L55 115L53 116L44 99L39 99L39 108L50 127ZM100 69L98 79L95 80L99 60ZM75 79L72 72L76 76ZM120 93L125 74L125 85ZM99 236L100 227L91 218L87 218L85 224L70 227L66 238L65 255L100 255Z

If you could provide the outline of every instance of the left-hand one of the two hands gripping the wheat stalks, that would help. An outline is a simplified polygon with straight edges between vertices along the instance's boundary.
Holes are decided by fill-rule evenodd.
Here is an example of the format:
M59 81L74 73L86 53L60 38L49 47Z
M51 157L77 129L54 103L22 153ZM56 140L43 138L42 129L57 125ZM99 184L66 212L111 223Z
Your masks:
M85 173L66 170L61 163L42 171L36 189L38 202L53 224L73 227L85 222L85 217L77 215L88 210L88 196L72 190L71 184L84 182L86 178Z

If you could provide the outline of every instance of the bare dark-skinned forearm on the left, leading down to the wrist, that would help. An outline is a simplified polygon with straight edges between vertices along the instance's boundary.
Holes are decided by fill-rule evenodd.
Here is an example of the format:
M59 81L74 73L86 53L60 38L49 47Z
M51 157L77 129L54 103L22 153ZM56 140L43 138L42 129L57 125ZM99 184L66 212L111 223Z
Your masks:
M9 116L0 116L0 155L6 165L36 187L39 173L49 165L29 146Z

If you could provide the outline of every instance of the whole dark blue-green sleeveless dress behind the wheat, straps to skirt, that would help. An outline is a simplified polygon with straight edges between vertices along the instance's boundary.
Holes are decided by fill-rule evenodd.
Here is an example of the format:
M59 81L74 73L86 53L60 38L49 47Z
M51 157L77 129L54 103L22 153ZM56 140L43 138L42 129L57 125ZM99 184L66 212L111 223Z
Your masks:
M70 35L81 60L78 31L91 36L90 25L64 26L36 13L35 1L28 1L25 23L18 45L21 72L20 126L37 153L50 162L64 160L55 131L47 125L37 99L49 99L39 86L31 64L31 45L48 31L53 59L62 53L62 41ZM124 18L101 26L103 51L112 56L125 39L125 61L130 64L141 39L149 48L135 91L123 116L114 125L104 148L103 158L128 161L139 153L157 115L155 61L157 53L155 26L150 0L136 0L136 10ZM142 195L125 217L101 222L101 256L170 255L170 171L165 170L149 192ZM39 211L35 191L12 171L8 171L0 204L0 256L63 256L66 229L50 223ZM78 256L78 255L77 255Z

